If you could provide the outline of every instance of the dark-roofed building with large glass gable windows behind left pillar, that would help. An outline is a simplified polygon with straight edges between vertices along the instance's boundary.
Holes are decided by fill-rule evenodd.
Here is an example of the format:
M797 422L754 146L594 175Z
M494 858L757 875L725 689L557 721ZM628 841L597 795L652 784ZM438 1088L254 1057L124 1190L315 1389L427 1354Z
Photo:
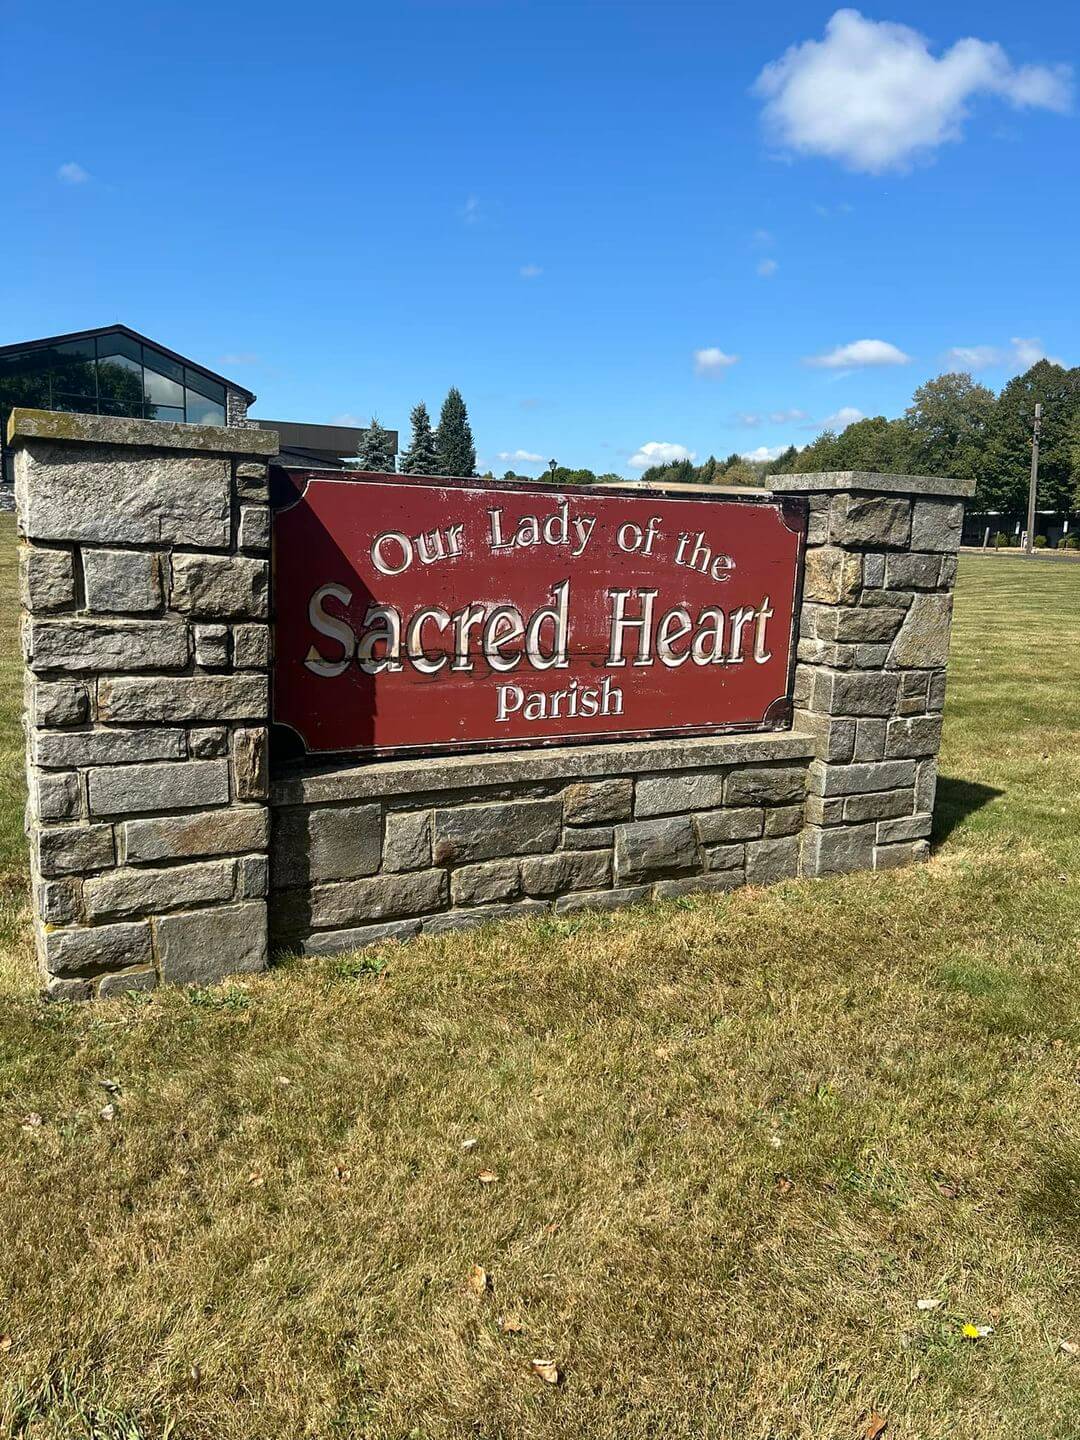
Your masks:
M0 510L12 505L7 416L13 406L131 415L180 425L261 425L281 431L281 462L341 468L363 429L248 419L255 395L127 325L0 346ZM395 449L397 436L395 435Z

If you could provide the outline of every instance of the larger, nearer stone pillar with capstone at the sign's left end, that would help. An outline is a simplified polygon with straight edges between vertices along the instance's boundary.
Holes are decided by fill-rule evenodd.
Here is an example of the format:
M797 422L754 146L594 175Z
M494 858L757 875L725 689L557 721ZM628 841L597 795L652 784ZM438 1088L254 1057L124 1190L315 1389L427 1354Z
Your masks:
M266 965L275 433L14 410L46 994Z

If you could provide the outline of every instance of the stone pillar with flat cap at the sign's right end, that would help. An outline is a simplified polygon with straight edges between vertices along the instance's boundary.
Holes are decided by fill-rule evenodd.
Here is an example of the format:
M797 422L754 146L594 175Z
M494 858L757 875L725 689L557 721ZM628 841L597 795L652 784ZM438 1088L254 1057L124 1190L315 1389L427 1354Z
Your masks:
M858 471L776 480L779 494L809 500L793 726L814 736L816 759L802 873L922 860L973 482Z

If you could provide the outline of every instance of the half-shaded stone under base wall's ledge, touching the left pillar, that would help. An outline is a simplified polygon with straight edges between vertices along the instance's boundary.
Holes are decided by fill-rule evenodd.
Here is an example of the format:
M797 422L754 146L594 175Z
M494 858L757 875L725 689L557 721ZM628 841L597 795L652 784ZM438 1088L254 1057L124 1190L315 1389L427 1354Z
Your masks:
M275 811L274 886L284 888L373 876L382 858L382 828L379 805Z

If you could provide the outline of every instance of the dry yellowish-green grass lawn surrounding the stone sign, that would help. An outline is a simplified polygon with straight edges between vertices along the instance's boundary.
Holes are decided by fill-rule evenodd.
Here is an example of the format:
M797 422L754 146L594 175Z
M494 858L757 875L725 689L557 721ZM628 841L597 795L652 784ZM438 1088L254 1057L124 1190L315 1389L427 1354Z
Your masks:
M0 1434L1080 1436L1080 569L962 563L929 865L69 1008L0 539Z

